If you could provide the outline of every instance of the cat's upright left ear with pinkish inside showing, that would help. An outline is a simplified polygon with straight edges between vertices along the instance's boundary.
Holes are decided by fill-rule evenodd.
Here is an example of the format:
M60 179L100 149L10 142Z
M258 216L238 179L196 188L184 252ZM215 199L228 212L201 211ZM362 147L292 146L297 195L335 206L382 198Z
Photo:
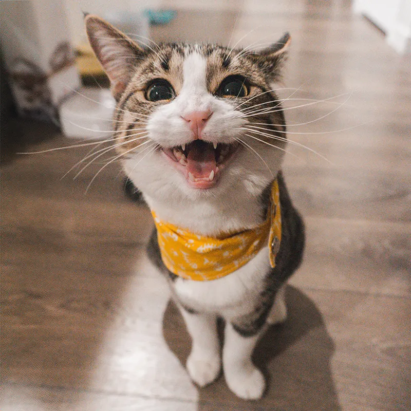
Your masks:
M134 74L133 63L143 50L96 15L87 14L84 21L88 41L110 80L113 96L118 100Z

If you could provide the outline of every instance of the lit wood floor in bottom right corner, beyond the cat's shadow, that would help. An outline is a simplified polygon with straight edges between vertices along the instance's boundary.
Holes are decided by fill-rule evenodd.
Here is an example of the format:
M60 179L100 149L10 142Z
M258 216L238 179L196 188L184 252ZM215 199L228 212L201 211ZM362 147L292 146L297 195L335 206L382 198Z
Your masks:
M324 291L307 295L321 307L335 343L332 368L344 409L409 409L409 299Z

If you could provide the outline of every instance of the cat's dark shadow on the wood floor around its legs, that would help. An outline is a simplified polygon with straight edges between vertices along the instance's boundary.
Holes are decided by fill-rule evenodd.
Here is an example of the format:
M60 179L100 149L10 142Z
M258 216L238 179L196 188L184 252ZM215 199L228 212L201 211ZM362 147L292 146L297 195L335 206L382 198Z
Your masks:
M322 315L314 303L294 287L287 288L288 319L269 328L254 353L255 364L268 379L263 399L247 402L228 389L221 376L199 388L198 411L225 410L340 410L330 360L334 351ZM183 319L173 302L163 319L166 343L182 364L191 343Z

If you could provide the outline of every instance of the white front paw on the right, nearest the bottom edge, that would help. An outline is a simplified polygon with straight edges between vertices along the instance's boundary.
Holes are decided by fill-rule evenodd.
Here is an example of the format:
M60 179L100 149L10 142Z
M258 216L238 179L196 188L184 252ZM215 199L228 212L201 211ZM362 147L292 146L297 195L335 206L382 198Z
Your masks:
M266 381L254 365L225 372L226 381L233 393L245 400L258 400L264 394Z

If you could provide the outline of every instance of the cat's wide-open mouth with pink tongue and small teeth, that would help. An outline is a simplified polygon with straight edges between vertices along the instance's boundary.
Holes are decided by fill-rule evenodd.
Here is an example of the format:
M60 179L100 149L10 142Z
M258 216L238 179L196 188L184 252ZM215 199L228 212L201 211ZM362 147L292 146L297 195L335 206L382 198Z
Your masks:
M162 148L162 151L191 187L209 189L217 183L221 170L238 146L238 143L212 144L195 140L183 146Z

